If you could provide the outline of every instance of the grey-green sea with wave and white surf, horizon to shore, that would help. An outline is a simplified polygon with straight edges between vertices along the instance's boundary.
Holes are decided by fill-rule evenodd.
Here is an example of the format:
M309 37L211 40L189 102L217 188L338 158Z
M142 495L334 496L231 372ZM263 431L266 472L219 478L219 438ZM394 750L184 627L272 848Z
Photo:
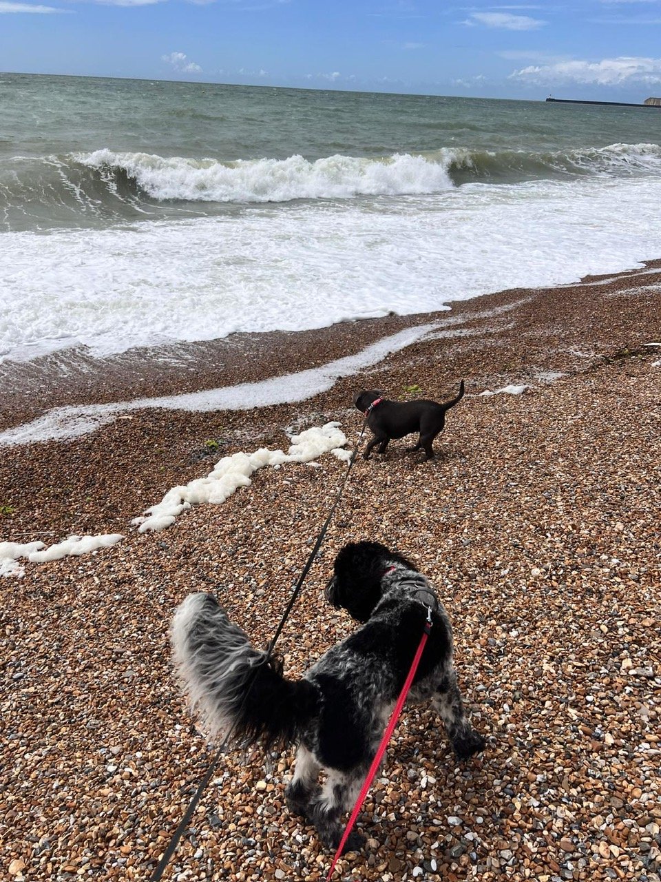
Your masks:
M651 258L661 110L0 74L2 362L425 313Z

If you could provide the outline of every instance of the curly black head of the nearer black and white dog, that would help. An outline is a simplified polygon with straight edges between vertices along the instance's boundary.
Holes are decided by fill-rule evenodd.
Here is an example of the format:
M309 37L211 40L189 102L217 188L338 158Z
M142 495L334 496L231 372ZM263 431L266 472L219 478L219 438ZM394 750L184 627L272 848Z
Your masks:
M393 564L418 572L411 561L381 542L347 542L335 558L326 599L335 609L346 609L352 618L367 622L382 598L383 576Z

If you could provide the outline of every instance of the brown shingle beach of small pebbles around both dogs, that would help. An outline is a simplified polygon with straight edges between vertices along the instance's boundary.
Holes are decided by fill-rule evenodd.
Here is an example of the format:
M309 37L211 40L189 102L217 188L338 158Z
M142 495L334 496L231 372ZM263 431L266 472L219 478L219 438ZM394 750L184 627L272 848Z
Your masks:
M0 578L1 878L150 878L214 756L172 676L174 609L210 591L265 646L347 466L325 454L264 467L160 532L132 519L221 457L286 450L286 430L338 422L353 449L362 388L448 400L464 378L432 462L405 441L355 461L278 649L301 676L353 630L323 599L345 542L397 548L449 611L486 751L457 766L442 723L406 707L360 813L368 849L334 878L659 882L661 260L451 306L167 358L0 366L6 432L54 407L295 375L436 325L301 401L145 407L71 440L0 447L0 542L123 534ZM332 856L286 808L292 764L293 751L222 757L164 878L325 878Z

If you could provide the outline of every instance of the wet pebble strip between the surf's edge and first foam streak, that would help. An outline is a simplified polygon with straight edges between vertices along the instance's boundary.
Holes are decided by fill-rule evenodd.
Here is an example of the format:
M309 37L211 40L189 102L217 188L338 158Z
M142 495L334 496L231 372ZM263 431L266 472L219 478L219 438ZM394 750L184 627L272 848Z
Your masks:
M353 353L370 341L431 322L455 325L489 310L507 309L522 298L553 295L586 286L627 284L661 267L661 258L620 273L585 276L549 288L511 288L467 300L448 301L442 310L338 322L308 331L232 333L219 340L176 342L93 357L69 348L32 361L0 363L0 431L30 422L53 407L115 403L197 392L309 370L329 360L329 352ZM283 361L283 349L285 360ZM331 356L332 357L332 356ZM35 392L39 392L35 400Z

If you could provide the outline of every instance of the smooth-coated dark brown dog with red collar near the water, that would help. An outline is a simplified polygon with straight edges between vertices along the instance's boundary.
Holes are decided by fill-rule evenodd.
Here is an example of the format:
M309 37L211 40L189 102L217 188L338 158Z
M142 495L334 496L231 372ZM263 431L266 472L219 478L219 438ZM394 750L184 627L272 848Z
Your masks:
M432 444L445 425L445 413L464 397L464 380L459 385L459 394L446 404L438 404L419 398L414 401L390 401L382 398L377 389L358 392L353 403L368 417L368 426L374 437L363 453L368 460L375 445L380 444L378 453L385 453L390 438L403 438L412 432L419 432L418 444L409 450L424 448L425 462L434 459Z

